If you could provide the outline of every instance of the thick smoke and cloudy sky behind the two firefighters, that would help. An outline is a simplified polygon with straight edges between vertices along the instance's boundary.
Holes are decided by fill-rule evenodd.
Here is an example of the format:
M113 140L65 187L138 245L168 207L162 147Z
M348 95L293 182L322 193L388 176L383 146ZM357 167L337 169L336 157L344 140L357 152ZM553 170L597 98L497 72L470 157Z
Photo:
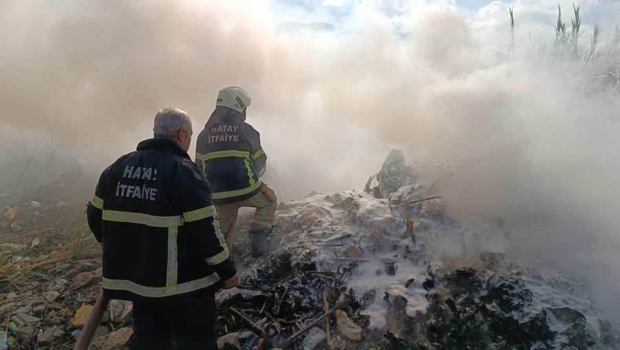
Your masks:
M451 159L453 214L508 216L527 254L620 276L619 99L597 89L609 65L532 60L558 4L570 25L573 3L555 0L0 0L0 161L19 172L36 154L33 176L78 164L94 183L160 108L189 112L197 135L237 85L281 200L362 188L392 148ZM620 2L580 6L579 45L595 23L613 37Z

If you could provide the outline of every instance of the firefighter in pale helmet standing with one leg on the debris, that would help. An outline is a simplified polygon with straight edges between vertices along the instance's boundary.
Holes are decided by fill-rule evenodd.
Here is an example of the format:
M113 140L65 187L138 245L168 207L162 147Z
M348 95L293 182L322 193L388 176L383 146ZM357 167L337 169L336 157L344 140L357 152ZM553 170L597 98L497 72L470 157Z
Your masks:
M239 208L256 208L248 232L252 256L256 258L267 251L277 198L260 180L267 155L259 132L246 123L250 102L242 88L220 90L215 110L198 135L195 159L213 190L217 220L229 251L235 240Z

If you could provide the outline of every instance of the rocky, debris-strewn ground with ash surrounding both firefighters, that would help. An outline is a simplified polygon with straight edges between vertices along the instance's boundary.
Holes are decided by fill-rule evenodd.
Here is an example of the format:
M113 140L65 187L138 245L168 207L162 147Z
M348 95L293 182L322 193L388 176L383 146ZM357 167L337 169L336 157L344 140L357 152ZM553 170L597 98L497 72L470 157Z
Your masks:
M592 305L588 287L480 249L478 233L467 246L440 194L409 172L396 152L365 191L281 203L274 250L258 260L244 212L233 245L241 280L217 295L220 349L620 348L617 320ZM91 193L72 172L3 203L10 349L70 349L81 332L101 281L85 223ZM440 254L455 236L467 259ZM112 300L91 348L125 349L131 322L131 303Z

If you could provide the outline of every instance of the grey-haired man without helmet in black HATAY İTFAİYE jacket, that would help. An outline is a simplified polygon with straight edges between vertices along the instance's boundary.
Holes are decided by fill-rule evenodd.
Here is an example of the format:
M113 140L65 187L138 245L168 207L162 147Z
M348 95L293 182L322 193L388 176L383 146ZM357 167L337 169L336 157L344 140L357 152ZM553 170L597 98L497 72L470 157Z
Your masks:
M103 293L133 302L130 349L217 349L215 291L239 280L209 185L186 153L189 115L164 108L153 138L99 178L88 225L103 245ZM223 280L223 282L219 282Z

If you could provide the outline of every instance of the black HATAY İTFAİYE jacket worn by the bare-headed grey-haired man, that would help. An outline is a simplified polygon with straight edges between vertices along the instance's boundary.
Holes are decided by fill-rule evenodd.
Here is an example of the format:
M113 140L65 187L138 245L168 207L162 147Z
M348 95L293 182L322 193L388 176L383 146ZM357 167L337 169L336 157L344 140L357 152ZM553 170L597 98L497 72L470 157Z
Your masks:
M212 296L236 273L209 185L174 141L142 141L107 167L87 218L103 245L108 298L173 305Z

